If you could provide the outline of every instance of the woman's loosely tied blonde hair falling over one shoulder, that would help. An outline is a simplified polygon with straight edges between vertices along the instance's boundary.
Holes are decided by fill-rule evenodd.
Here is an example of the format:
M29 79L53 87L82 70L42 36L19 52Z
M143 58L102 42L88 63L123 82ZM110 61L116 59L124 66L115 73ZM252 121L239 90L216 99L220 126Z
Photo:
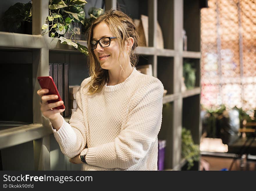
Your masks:
M133 20L119 10L109 10L106 11L103 15L99 16L95 21L92 23L90 28L88 29L88 65L90 68L90 76L91 81L87 84L89 85L88 93L89 94L95 94L97 92L100 92L104 86L105 83L108 81L108 70L102 69L100 67L100 64L98 63L98 60L93 52L91 50L91 43L90 41L93 38L93 29L94 27L101 23L105 22L109 28L111 33L116 37L116 40L120 47L120 54L124 52L125 49L125 42L129 42L128 38L132 37L134 38L134 44L129 50L129 59L132 66L135 66L138 60L138 57L136 54L134 54L134 49L138 46L138 33L136 31L135 24ZM99 45L98 45L99 46ZM119 54L119 58L120 58ZM121 65L120 65L121 66ZM121 66L122 67L122 66Z

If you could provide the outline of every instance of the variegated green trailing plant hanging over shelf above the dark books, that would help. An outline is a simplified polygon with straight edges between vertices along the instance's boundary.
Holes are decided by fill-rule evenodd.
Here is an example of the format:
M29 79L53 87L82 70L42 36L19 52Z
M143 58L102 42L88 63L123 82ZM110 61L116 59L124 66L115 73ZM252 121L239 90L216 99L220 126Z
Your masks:
M46 18L46 24L42 26L42 30L45 30L42 35L50 32L52 38L59 37L62 44L73 46L87 56L87 47L71 40L75 35L72 30L72 22L84 25L85 12L83 8L86 3L85 0L49 0L49 16ZM68 29L72 31L70 39L63 37Z

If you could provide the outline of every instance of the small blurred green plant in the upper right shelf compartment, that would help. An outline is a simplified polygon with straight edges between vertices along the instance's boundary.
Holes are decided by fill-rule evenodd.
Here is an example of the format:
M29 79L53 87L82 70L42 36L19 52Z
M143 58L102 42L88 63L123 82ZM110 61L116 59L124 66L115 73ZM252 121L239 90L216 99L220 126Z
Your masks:
M192 63L183 64L183 77L184 83L188 89L193 89L195 87L195 71L192 67Z

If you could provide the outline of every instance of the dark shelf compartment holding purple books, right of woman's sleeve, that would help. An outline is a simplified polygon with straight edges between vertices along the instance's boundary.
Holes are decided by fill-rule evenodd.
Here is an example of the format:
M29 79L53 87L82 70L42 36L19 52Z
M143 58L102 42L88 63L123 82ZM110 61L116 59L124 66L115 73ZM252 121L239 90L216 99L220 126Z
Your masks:
M162 125L158 140L166 140L164 169L170 169L173 158L173 102L163 104Z

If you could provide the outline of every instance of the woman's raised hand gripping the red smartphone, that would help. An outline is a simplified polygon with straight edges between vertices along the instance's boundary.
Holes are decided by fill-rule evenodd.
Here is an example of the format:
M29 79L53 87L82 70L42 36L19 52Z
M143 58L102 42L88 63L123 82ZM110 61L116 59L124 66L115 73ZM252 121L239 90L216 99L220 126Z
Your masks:
M48 89L40 89L37 91L37 94L41 97L41 102L40 102L41 108L40 109L41 109L43 116L54 121L54 120L57 120L58 117L61 116L60 113L63 112L65 109L52 109L57 106L63 105L63 101L58 101L55 103L48 103L47 101L49 101L49 100L58 99L57 95L45 95L48 92L49 92Z

